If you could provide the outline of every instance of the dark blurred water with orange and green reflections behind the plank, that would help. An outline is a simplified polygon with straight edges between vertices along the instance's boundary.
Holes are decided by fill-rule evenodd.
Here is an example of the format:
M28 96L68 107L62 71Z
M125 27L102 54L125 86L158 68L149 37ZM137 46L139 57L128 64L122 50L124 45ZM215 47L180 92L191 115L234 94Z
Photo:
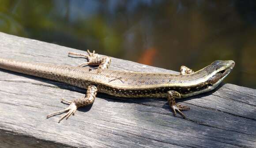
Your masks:
M255 0L0 0L0 31L179 71L234 60L256 88Z

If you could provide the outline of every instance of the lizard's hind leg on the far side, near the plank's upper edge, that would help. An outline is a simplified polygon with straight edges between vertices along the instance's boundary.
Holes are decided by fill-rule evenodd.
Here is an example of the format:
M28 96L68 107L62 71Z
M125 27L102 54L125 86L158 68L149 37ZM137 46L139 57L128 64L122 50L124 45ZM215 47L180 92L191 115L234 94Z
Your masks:
M95 54L95 51L93 51L93 53L91 53L89 50L87 50L87 54L78 54L78 53L74 53L74 52L69 52L68 54L73 54L73 55L78 55L78 56L83 56L87 58L87 62L80 64L79 66L82 67L84 65L96 65L98 67L96 68L91 68L92 69L97 69L98 73L102 72L103 69L108 69L110 62L111 62L111 58L108 56L104 56L104 57L99 57L98 54Z

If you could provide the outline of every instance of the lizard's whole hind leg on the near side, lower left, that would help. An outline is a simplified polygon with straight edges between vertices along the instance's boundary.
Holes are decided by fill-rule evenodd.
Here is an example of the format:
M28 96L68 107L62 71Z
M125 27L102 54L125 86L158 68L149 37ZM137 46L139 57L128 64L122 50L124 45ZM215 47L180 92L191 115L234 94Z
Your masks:
M61 110L61 111L58 111L58 112L53 112L53 113L49 114L47 116L47 118L55 116L55 115L63 113L63 112L67 112L64 116L62 116L59 119L59 123L60 123L60 121L62 119L64 119L65 117L66 117L66 119L68 119L68 117L70 115L72 115L72 114L74 115L77 108L79 108L81 106L92 104L94 102L96 94L97 94L97 87L95 87L94 85L91 85L87 88L87 92L86 92L85 97L77 98L73 101L67 101L65 99L62 99L62 101L66 101L69 104L68 108L66 108L64 110Z

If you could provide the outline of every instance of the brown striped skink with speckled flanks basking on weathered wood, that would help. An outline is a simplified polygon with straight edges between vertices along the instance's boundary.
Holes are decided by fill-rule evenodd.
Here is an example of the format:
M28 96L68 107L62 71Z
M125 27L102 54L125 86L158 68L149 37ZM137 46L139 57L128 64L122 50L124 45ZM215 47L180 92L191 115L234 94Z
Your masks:
M0 58L0 69L51 79L86 89L84 97L72 101L62 99L69 104L68 108L47 116L49 118L66 112L59 119L60 123L62 119L68 119L69 116L74 115L77 108L92 104L98 92L116 97L167 98L173 116L176 116L178 112L185 119L186 116L181 111L190 108L186 105L176 104L175 99L215 89L235 65L232 60L217 60L196 72L186 66L181 66L180 74L177 75L156 72L123 72L110 70L111 58L99 56L95 54L95 51L91 53L87 50L87 54L74 52L68 54L87 58L87 62L79 66L66 66ZM86 68L84 67L86 65L97 67Z

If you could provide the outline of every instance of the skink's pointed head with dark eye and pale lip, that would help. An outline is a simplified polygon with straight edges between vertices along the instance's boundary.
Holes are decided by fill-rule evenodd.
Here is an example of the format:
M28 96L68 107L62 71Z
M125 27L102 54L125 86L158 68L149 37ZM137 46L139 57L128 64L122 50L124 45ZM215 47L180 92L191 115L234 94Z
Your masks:
M234 66L235 62L232 60L214 61L206 67L208 76L210 76L207 82L212 85L218 85L231 72Z

